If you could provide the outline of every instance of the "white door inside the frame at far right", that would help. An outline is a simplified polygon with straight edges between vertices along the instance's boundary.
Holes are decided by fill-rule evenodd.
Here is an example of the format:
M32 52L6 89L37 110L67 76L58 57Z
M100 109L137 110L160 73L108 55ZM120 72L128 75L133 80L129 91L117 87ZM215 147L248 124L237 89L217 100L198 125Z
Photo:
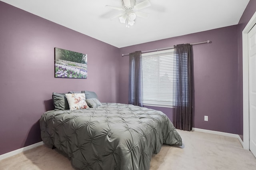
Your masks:
M256 157L256 26L248 33L249 63L249 147Z

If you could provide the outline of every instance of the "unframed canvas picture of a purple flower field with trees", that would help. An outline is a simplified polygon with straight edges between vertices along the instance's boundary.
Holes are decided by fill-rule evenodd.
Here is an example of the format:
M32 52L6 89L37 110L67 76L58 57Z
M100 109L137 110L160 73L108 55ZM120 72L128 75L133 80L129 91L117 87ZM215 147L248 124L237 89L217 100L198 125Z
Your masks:
M87 54L55 47L55 77L87 78Z

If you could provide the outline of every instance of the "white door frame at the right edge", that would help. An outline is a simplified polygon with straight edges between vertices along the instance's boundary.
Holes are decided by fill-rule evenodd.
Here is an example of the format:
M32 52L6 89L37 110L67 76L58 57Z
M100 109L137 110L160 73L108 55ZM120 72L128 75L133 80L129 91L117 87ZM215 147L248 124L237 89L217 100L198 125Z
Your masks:
M243 43L243 146L244 149L250 149L250 135L249 135L249 60L248 60L248 32L256 24L256 12L250 19L242 31Z

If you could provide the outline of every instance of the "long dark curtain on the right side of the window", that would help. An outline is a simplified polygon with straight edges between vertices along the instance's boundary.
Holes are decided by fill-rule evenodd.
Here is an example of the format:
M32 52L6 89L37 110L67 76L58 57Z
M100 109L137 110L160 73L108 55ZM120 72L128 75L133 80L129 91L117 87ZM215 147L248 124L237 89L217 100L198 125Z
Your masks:
M174 81L173 124L180 130L192 130L191 45L174 45L176 79Z

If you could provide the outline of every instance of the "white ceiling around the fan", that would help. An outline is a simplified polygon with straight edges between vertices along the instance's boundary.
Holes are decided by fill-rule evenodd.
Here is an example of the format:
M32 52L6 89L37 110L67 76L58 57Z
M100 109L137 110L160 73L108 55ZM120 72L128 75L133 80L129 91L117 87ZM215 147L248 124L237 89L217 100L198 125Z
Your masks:
M115 47L126 47L238 24L250 0L150 0L126 28L118 18L122 0L1 0ZM137 0L137 4L144 0Z

